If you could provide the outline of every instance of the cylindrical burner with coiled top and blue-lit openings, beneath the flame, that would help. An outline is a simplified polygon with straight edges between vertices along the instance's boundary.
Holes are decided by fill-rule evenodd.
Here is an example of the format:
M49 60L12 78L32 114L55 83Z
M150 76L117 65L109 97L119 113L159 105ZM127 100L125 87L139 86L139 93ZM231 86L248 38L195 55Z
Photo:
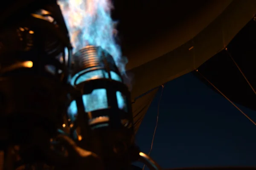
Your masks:
M134 144L128 87L113 57L100 47L88 45L77 51L72 68L71 85L81 92L81 96L73 98L78 111L75 127L80 129L80 143L106 162L116 161Z

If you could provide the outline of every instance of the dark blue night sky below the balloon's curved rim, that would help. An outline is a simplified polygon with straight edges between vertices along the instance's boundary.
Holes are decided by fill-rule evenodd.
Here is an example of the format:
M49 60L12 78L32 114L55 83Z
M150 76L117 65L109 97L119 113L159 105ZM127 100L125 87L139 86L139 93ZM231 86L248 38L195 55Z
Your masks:
M144 153L150 150L160 92L137 133ZM255 111L239 108L256 120ZM164 168L256 166L255 131L230 102L189 73L164 87L151 157Z

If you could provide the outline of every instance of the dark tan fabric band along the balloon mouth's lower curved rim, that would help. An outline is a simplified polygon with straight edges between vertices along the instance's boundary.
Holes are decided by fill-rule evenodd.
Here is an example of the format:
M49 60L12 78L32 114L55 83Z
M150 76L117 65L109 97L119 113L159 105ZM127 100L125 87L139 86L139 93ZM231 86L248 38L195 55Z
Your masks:
M131 69L129 72L134 75L132 98L198 68L207 59L221 51L253 18L254 14L256 14L255 0L233 0L192 40ZM189 50L190 48L192 49ZM140 60L139 57L138 60Z

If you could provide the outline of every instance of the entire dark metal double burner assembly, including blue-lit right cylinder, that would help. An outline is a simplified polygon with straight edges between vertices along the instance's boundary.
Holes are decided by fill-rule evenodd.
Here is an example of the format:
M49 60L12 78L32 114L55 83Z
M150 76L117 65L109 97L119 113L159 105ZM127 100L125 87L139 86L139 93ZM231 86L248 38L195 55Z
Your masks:
M7 10L12 14L0 17L3 169L30 169L34 163L55 170L102 170L102 162L105 169L128 167L140 152L130 92L113 57L89 45L73 55L71 65L72 47L56 0L23 3L13 3ZM69 102L78 113L67 125L72 136L60 130Z

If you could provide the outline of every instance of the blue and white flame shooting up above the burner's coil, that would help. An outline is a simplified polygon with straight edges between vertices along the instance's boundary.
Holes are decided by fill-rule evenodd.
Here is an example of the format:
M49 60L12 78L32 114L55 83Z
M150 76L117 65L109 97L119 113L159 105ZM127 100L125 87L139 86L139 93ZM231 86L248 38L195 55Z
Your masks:
M100 46L114 59L122 75L125 75L127 59L115 42L115 25L111 18L113 5L110 0L59 0L58 4L66 20L73 45L73 52L86 45Z

